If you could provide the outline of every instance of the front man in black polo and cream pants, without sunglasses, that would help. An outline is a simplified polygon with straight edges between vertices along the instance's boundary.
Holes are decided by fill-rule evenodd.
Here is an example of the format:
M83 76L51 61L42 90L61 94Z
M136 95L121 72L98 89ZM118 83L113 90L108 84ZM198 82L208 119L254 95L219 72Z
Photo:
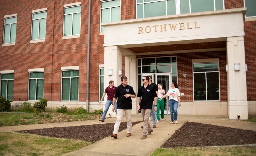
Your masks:
M127 85L127 77L121 77L122 84L119 85L115 90L115 95L113 99L113 106L112 111L114 112L114 105L117 101L117 111L116 111L116 122L114 125L114 132L111 137L117 138L118 129L123 118L123 112L125 112L126 122L127 122L127 134L126 136L129 137L132 134L132 122L131 122L131 111L132 111L132 98L135 98L135 92L133 91L133 87Z

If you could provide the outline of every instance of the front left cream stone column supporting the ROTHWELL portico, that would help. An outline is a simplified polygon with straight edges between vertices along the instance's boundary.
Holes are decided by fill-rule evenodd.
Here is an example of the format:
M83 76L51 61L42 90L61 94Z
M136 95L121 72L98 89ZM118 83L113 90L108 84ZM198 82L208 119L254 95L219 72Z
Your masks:
M121 76L119 76L118 70L122 69L121 48L118 46L104 48L104 88L109 85L110 80L115 82L115 86L119 86Z

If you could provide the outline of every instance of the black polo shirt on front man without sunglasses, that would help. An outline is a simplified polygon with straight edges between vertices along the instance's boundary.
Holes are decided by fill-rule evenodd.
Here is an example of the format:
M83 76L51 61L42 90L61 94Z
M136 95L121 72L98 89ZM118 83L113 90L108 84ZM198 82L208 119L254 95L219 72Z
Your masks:
M117 98L117 109L132 109L132 98L124 97L123 95L126 94L136 95L132 86L126 85L124 87L121 84L116 88L114 97Z

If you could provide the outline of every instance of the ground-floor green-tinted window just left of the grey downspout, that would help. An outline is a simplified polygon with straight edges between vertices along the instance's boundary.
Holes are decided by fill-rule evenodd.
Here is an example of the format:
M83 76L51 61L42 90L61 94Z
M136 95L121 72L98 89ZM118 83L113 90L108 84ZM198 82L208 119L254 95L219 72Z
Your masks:
M78 101L79 70L62 71L61 100Z

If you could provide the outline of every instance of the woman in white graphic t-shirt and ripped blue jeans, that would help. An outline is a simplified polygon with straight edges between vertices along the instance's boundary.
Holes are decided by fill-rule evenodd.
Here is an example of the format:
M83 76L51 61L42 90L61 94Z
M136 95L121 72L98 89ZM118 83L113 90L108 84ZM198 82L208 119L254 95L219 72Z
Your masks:
M180 90L178 89L178 84L177 82L172 82L171 83L171 88L168 90L166 95L164 95L162 98L165 98L169 96L169 108L171 112L171 124L173 124L175 120L175 124L178 124L178 106L181 106L181 99L180 99ZM159 100L162 100L160 98ZM174 115L174 120L173 120L173 115Z

